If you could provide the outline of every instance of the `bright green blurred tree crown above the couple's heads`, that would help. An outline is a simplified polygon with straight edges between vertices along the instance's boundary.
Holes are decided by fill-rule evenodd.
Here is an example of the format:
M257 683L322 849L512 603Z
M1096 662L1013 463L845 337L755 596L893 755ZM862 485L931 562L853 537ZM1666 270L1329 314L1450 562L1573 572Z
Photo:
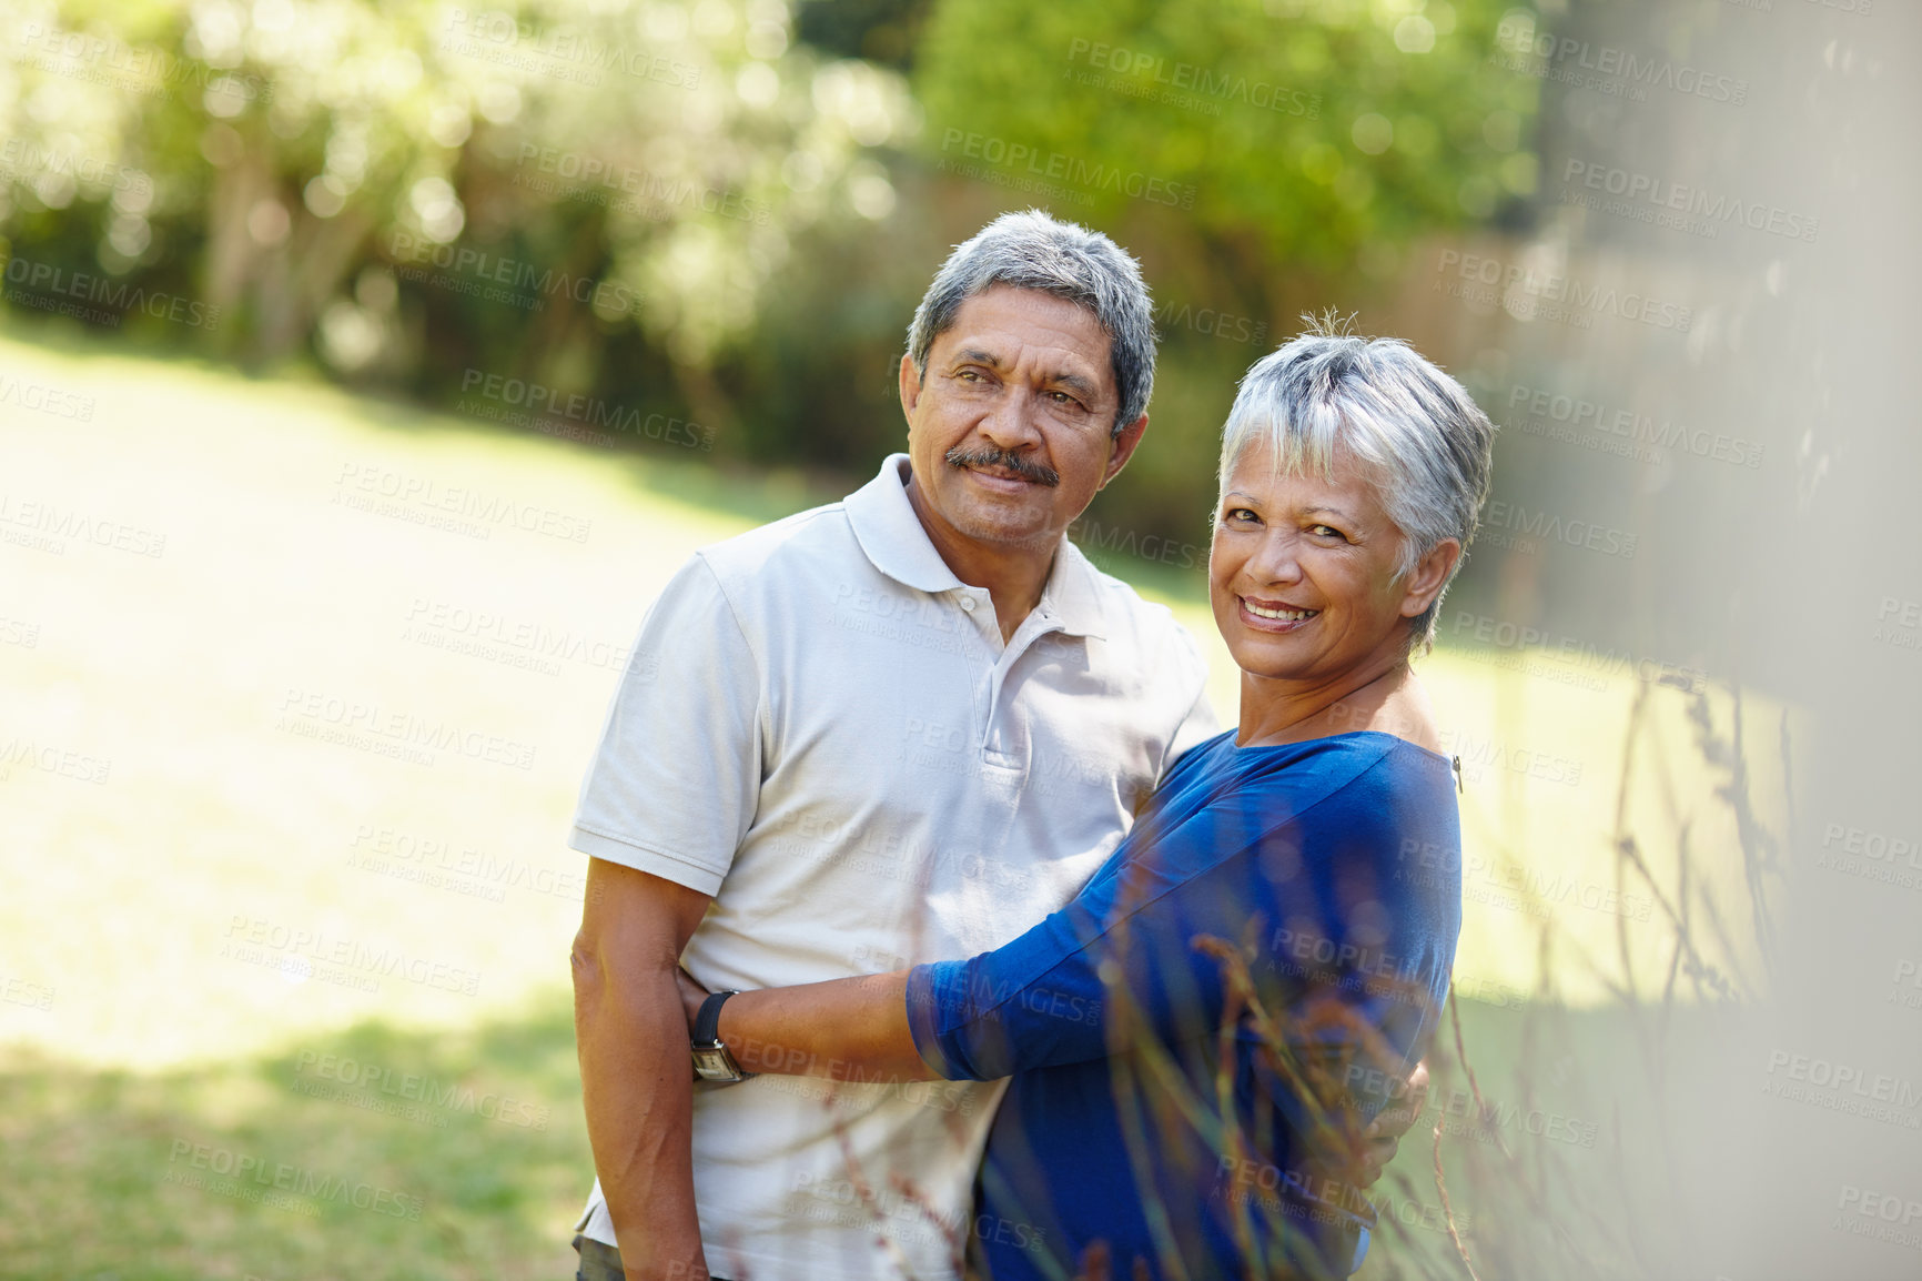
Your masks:
M1259 298L1534 190L1520 125L1536 85L1484 65L1509 8L946 4L917 77L924 138L949 162L976 158L973 137L1026 144L1032 158L988 167L1074 188L1101 223L1178 208L1157 244L1213 246Z

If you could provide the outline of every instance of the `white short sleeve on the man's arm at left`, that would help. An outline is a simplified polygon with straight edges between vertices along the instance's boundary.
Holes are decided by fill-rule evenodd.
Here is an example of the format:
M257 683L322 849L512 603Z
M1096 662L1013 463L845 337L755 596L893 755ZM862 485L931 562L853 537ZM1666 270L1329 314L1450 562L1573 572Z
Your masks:
M753 823L759 783L761 667L696 556L640 625L569 844L711 896Z

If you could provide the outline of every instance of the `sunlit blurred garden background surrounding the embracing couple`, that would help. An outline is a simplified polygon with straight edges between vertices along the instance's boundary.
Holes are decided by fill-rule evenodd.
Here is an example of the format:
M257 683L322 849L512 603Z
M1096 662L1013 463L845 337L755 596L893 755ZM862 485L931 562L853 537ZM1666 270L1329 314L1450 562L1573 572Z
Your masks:
M1030 206L1153 289L1072 533L1224 719L1240 373L1332 308L1501 425L1420 664L1459 1025L1365 1275L1922 1273L1907 4L0 0L0 1275L571 1273L627 644L899 446L921 290Z

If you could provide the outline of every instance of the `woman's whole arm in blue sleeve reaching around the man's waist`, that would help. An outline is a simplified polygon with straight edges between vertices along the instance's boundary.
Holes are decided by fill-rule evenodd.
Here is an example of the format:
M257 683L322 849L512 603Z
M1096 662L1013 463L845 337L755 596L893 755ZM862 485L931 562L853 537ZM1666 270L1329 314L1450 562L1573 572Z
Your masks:
M1363 781L1378 762L1338 760L1305 787L1244 783L1151 841L1130 833L1113 871L992 952L744 992L721 1008L719 1035L748 1071L844 1081L986 1081L1105 1058L1117 1042L1192 1042L1238 1008L1224 948L1195 946L1215 939L1253 971L1278 1041L1305 1058L1345 1052L1367 1068L1345 1075L1382 1089L1405 1081L1418 1054L1403 1046L1432 1021L1461 912L1457 898L1438 946L1440 921L1399 877L1417 831L1407 808L1445 802L1453 821L1453 792ZM690 1023L703 996L684 994Z

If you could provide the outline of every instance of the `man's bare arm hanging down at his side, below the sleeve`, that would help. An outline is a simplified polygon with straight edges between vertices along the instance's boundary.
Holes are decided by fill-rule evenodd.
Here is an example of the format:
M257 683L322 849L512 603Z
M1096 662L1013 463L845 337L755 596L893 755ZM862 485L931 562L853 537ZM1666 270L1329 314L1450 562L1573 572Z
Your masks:
M575 935L575 1044L594 1171L628 1281L702 1281L694 1212L692 1068L675 992L709 896L588 862Z

